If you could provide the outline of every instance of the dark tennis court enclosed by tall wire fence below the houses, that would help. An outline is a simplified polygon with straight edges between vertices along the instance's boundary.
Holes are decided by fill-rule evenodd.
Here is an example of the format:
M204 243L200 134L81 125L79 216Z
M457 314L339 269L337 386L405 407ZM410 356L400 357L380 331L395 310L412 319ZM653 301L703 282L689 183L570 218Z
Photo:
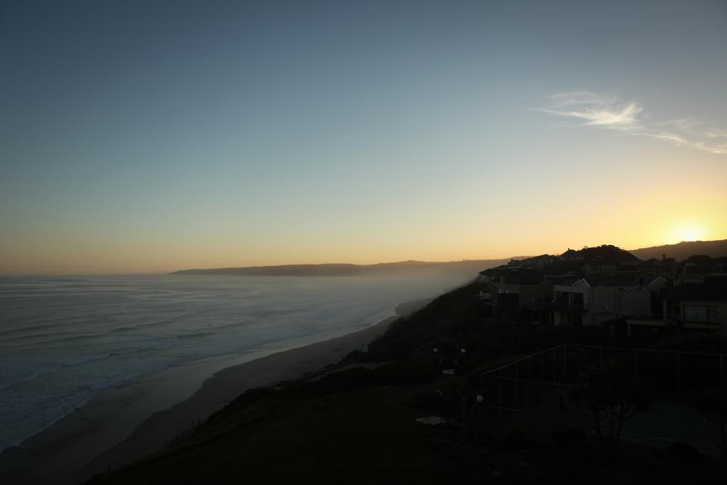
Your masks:
M646 383L652 399L647 410L624 421L624 441L659 448L683 441L704 454L720 455L718 425L684 403L694 390L727 384L724 354L563 344L483 372L480 392L490 409L547 420L547 413L557 409L555 401L563 403L584 369L614 360Z

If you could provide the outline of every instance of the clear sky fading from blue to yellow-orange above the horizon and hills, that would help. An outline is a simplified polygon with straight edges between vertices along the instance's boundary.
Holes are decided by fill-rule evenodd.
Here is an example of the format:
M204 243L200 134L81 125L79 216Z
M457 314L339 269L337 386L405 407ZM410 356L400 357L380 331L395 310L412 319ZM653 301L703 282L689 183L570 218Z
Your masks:
M727 239L727 1L0 4L0 273Z

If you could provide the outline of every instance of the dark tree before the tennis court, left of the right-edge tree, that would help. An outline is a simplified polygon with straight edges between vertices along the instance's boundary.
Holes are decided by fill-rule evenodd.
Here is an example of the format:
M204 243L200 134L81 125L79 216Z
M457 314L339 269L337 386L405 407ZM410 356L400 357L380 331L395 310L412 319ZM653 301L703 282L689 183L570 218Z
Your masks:
M646 393L638 378L617 361L584 372L579 385L569 391L569 400L593 416L601 460L610 465L621 440L624 420L646 408Z

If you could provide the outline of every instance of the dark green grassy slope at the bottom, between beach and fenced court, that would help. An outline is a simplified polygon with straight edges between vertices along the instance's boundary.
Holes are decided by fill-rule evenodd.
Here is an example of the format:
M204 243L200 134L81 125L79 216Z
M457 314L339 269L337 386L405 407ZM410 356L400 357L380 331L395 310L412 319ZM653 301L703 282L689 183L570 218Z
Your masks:
M185 446L98 483L445 481L451 474L449 460L422 445L426 428L404 404L417 390L355 390L335 396L325 411L313 411L315 398L258 409L249 413L247 422L240 416L234 427L228 422L225 433L201 433Z

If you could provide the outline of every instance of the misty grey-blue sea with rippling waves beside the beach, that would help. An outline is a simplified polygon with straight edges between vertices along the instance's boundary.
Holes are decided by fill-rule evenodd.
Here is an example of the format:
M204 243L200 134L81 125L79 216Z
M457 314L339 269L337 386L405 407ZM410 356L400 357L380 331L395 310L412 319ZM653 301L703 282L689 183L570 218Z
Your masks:
M465 279L0 278L0 450L142 375L354 332Z

